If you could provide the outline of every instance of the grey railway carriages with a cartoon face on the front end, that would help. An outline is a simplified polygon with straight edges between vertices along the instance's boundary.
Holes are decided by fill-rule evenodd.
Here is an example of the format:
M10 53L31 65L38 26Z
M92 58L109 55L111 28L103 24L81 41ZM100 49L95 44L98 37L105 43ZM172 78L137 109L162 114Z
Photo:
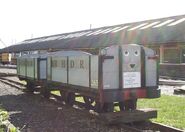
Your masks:
M92 55L58 51L17 58L17 74L30 92L41 87L45 97L60 90L73 105L76 95L97 112L136 109L137 99L157 98L158 61L153 50L137 44L113 45Z

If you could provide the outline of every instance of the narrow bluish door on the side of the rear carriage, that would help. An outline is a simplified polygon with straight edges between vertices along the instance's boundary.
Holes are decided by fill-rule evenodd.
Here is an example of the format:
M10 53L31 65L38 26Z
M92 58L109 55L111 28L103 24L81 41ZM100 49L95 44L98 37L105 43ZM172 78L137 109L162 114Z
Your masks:
M46 79L46 75L47 75L47 60L46 59L40 59L39 60L39 77L40 79Z

